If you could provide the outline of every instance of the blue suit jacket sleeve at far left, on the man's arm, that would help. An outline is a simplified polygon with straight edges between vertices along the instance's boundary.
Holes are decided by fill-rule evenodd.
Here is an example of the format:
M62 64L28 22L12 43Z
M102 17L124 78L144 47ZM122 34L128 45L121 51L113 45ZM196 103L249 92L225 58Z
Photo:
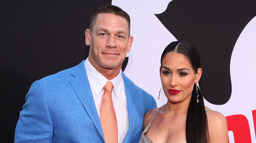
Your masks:
M52 142L53 123L40 81L32 84L25 100L14 142Z

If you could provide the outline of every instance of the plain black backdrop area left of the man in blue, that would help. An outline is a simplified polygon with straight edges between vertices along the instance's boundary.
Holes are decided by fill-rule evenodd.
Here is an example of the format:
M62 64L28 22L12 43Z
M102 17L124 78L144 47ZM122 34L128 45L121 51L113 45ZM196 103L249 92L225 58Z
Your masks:
M32 82L74 67L88 56L84 32L89 28L91 14L111 2L1 1L0 73L4 88L0 95L4 101L1 109L6 109L1 115L6 117L1 128L2 142L13 142L19 112Z

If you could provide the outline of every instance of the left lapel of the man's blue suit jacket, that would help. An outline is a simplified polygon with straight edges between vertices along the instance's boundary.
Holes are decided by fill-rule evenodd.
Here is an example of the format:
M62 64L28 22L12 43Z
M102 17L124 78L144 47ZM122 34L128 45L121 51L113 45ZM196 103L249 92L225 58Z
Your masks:
M71 78L70 84L75 90L77 97L83 104L88 115L92 119L102 139L104 139L104 135L102 132L97 109L95 107L91 87L87 78L87 74L84 66L84 60L79 65L74 67L74 70L71 72L71 75L74 76L74 78Z

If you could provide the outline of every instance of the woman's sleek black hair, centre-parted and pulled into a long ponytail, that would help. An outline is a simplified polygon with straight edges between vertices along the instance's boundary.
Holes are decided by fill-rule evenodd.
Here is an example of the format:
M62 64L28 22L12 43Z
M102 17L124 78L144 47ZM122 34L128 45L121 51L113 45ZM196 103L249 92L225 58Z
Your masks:
M169 52L175 52L183 54L190 62L195 73L201 68L200 56L197 49L184 41L171 42L163 51L161 56L161 67L162 59ZM197 103L197 95L199 103ZM187 143L207 143L209 140L208 122L205 112L203 95L197 85L194 84L192 91L192 97L188 105L187 118L186 118L186 141Z

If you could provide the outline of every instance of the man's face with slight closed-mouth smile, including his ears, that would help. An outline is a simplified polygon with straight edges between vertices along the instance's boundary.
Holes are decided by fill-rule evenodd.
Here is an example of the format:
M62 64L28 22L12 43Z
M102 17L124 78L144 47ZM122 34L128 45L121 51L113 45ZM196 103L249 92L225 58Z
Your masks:
M121 69L133 42L125 18L99 13L92 31L86 29L85 36L86 45L90 45L89 61L97 70Z

